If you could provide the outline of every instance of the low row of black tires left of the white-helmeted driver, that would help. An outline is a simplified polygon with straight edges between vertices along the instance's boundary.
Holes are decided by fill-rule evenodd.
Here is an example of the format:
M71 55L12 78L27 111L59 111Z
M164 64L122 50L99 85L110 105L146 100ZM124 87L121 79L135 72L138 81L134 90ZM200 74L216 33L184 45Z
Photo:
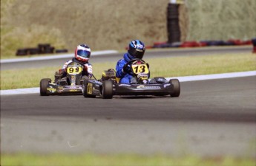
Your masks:
M23 56L68 52L68 49L56 49L56 51L54 52L54 49L55 48L53 46L50 46L50 44L38 44L37 48L17 49L16 55Z

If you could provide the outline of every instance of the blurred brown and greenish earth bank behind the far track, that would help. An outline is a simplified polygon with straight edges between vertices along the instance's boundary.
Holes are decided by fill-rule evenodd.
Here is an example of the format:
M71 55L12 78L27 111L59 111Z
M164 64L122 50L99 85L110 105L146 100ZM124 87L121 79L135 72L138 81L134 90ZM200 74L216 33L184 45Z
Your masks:
M1 58L24 47L51 44L73 52L125 49L168 41L169 0L1 0ZM178 7L180 41L250 40L256 36L255 0L193 0Z

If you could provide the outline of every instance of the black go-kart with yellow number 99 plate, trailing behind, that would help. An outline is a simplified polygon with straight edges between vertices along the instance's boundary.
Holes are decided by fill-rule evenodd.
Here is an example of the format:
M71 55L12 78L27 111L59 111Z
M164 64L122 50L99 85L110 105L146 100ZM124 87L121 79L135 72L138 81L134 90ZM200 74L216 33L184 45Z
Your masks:
M50 78L43 78L40 81L41 96L56 94L82 94L82 83L87 76L82 76L84 65L82 63L72 62L67 66L66 77L57 76L52 83ZM58 75L56 72L55 76Z

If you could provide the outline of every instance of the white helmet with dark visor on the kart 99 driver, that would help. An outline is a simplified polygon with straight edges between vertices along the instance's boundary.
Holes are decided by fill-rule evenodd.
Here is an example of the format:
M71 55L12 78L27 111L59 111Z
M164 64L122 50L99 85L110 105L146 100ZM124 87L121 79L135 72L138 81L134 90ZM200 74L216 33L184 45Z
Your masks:
M82 62L87 62L91 55L91 49L86 44L76 46L75 58Z

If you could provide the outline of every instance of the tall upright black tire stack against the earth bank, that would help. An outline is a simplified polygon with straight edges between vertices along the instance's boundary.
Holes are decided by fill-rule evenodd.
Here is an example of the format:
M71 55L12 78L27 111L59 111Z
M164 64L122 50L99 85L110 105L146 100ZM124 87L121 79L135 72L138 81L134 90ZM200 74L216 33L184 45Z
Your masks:
M179 5L168 4L167 7L167 33L168 43L180 42Z

